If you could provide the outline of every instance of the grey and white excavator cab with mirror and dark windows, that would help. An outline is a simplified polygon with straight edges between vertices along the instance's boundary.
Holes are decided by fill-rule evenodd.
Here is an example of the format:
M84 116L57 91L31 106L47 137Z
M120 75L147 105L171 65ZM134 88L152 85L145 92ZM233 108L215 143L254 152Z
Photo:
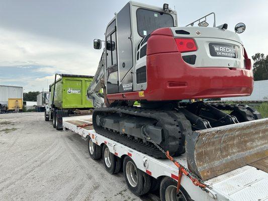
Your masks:
M136 2L127 3L108 24L105 33L107 94L146 88L146 81L140 82L144 67L135 69L138 44L154 30L176 25L176 12L168 9L167 4L160 9ZM94 48L101 49L101 40L94 41ZM146 55L146 49L143 48L142 54Z

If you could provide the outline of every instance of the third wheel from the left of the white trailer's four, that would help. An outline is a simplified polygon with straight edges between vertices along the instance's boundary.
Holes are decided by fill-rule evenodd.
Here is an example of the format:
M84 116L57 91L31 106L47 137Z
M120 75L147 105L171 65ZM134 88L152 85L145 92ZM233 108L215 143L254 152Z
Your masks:
M143 195L150 190L151 177L139 170L134 161L128 156L124 158L123 170L128 188L135 195Z

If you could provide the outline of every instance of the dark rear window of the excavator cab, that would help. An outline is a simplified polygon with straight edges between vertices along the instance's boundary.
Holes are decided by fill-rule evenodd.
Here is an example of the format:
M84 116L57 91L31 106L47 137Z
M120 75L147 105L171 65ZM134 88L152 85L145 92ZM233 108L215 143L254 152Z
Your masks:
M146 9L137 10L137 28L141 37L145 37L154 30L163 27L174 27L171 15Z

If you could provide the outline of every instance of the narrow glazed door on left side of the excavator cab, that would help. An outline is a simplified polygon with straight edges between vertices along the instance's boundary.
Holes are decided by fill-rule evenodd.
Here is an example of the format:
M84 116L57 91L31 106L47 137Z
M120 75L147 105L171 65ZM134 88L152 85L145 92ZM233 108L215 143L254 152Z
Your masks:
M106 81L107 93L118 93L118 65L116 21L114 20L106 30Z

